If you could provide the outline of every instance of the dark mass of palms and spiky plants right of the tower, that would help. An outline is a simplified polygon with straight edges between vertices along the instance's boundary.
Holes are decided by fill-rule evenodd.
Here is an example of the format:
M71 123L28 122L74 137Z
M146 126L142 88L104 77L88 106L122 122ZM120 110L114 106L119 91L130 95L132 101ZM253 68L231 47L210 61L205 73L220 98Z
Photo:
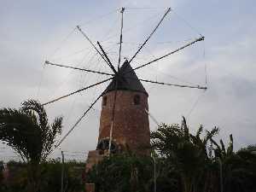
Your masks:
M201 138L201 125L195 135L183 118L182 125L160 125L151 133L152 147L165 167L176 172L183 192L253 192L256 180L256 146L234 151L233 137L227 146L213 137L218 128ZM214 152L214 154L212 154ZM221 190L223 189L223 190Z

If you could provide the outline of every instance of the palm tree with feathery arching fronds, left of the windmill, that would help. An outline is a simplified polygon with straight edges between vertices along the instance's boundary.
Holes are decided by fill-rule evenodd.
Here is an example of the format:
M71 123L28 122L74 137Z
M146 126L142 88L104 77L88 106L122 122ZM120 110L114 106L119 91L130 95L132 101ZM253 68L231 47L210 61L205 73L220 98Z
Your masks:
M49 125L40 102L28 100L20 109L0 109L0 140L7 143L27 164L28 191L38 191L39 163L52 151L55 137L61 134L62 117Z

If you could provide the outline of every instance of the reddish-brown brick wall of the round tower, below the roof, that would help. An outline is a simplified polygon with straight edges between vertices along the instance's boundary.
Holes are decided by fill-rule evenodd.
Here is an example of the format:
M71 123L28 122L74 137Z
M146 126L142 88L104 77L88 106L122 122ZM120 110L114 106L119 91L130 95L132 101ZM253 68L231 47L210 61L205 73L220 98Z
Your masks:
M102 113L98 141L109 138L113 113L113 100L115 91L110 91L103 96L107 97ZM140 103L134 103L134 97L140 97ZM149 122L148 96L142 92L118 90L115 102L113 119L113 141L123 148L129 148L135 154L149 154ZM147 149L146 149L147 148Z

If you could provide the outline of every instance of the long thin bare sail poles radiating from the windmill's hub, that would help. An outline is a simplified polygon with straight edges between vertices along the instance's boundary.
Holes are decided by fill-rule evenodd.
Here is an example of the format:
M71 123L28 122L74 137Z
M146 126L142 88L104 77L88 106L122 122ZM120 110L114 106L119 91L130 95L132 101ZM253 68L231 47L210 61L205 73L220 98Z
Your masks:
M80 118L76 121L76 123L71 127L71 129L69 131L67 131L67 133L64 135L64 137L61 138L59 143L56 144L55 148L59 147L61 145L61 143L68 137L68 135L77 127L77 125L79 125L80 121L82 119L84 119L84 117L87 113L90 112L90 109L94 107L96 102L98 102L100 100L100 98L102 98L102 96L106 95L110 91L112 92L113 102L112 102L112 105L111 105L110 127L109 127L109 130L108 130L109 137L108 137L107 143L101 143L102 145L104 145L104 148L108 148L108 155L113 152L113 150L112 150L113 149L113 127L114 127L114 122L115 122L116 115L117 115L116 114L116 103L117 103L118 97L119 97L119 90L127 90L127 89L128 90L136 90L137 92L143 92L144 94L147 95L146 90L145 91L143 90L143 86L141 85L141 82L145 82L145 83L149 83L149 84L163 84L163 85L168 85L168 86L177 86L177 87L183 87L183 88L187 87L187 88L193 88L193 89L207 90L206 86L190 85L190 84L171 84L171 83L160 82L160 81L155 81L155 80L150 80L150 79L140 79L136 75L136 71L138 69L141 69L143 67L148 67L149 65L153 65L156 61L160 61L160 60L162 60L166 57L169 57L170 55L173 55L173 54L177 53L178 51L180 51L182 49L185 49L185 48L191 46L192 44L203 41L204 40L203 36L200 36L199 38L195 38L194 40L190 41L189 43L183 44L183 46L179 47L178 49L174 49L172 51L169 51L165 55L161 55L160 57L154 58L154 60L152 60L152 61L148 61L146 63L143 63L142 65L140 65L138 67L134 67L134 68L131 67L132 61L134 61L134 59L137 57L137 55L139 55L141 50L144 48L145 44L148 43L149 39L154 35L154 33L159 28L159 26L162 24L163 20L165 20L166 15L168 15L171 11L172 11L171 8L166 9L165 14L162 15L160 21L154 27L153 31L149 33L148 38L146 38L143 41L143 44L141 44L139 46L139 48L137 49L135 54L131 56L131 59L129 59L129 60L125 59L124 63L121 63L121 58L120 57L121 57L122 44L123 44L123 23L124 23L123 18L124 18L125 8L120 9L121 25L120 25L120 34L119 34L119 59L118 59L118 63L113 63L113 61L111 61L109 59L108 53L105 51L105 49L103 48L102 44L99 41L97 41L96 44L93 43L90 40L89 36L84 32L84 30L80 26L76 27L77 30L82 34L82 36L84 36L84 38L90 43L92 49L96 50L96 53L99 56L101 56L102 61L104 61L105 64L111 69L111 73L106 73L106 72L97 71L97 70L90 70L90 69L86 69L86 68L72 67L72 66L62 65L60 63L55 63L55 62L51 62L51 61L45 61L45 65L55 66L55 67L66 67L66 68L70 68L70 69L73 69L73 70L84 71L86 73L97 73L97 74L102 75L102 76L108 76L108 78L104 79L102 81L96 82L94 84L90 84L89 86L86 86L82 89L70 92L67 95L57 97L54 100L51 100L49 102L45 102L43 105L48 105L50 103L57 102L57 101L59 101L63 98L66 98L68 96L73 96L73 95L75 95L75 94L77 94L81 91L89 90L92 87L96 87L97 85L100 85L100 84L103 84L105 82L111 81L110 84L108 85L107 89L104 90L99 96L96 97L96 100L94 102L92 102L90 104L89 108L87 108L84 111L84 113L80 116ZM103 98L103 102L104 102L104 98ZM144 109L147 112L148 108L145 107ZM145 111L144 111L144 113L146 113ZM106 145L107 145L107 147L106 147Z

